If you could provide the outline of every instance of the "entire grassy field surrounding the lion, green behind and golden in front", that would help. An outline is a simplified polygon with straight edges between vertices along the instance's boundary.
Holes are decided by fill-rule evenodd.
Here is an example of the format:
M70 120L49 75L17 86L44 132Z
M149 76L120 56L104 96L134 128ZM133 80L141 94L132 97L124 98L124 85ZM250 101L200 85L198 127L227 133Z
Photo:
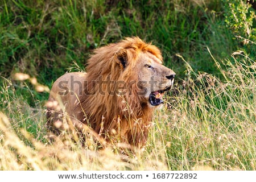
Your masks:
M0 0L0 169L256 170L255 24L238 0ZM52 81L126 36L158 46L177 73L145 150L50 142Z

